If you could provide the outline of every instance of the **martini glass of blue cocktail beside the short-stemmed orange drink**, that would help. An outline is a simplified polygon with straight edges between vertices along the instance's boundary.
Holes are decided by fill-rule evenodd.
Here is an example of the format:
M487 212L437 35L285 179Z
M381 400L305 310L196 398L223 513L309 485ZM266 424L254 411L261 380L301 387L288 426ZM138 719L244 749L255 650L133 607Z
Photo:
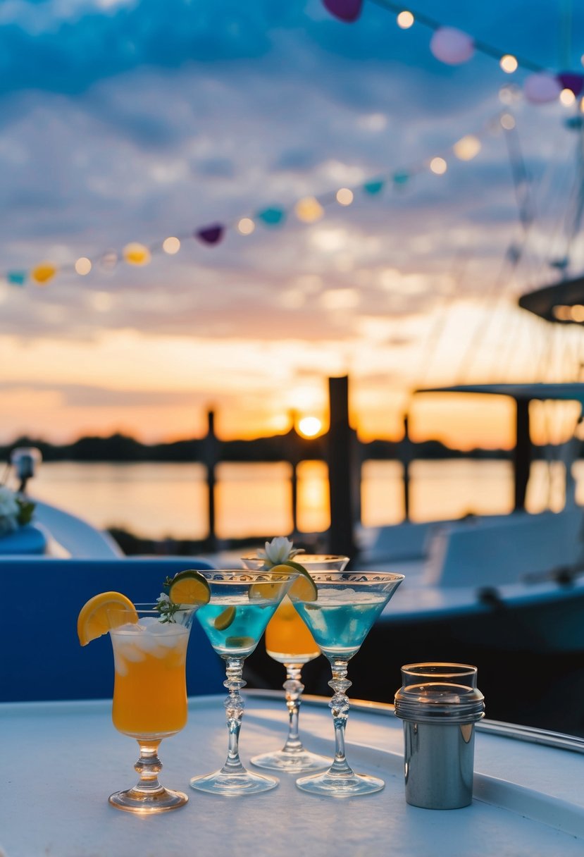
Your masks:
M239 758L239 734L244 703L240 690L243 662L251 655L275 613L277 605L298 576L289 572L203 571L211 587L211 600L200 608L198 617L213 649L225 661L229 692L225 699L229 745L223 768L212 774L194 776L190 784L211 794L255 794L275 788L273 776L260 776L246 770Z

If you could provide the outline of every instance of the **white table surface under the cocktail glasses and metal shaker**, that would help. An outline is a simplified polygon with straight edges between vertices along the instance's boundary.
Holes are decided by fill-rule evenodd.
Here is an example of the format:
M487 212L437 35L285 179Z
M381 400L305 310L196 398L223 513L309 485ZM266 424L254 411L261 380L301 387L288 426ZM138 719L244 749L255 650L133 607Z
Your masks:
M246 694L244 764L283 744L283 699ZM584 854L584 756L478 732L472 806L408 806L402 723L387 707L353 709L349 763L382 776L378 794L331 799L280 777L271 792L244 798L200 794L195 774L216 770L227 747L223 697L189 702L188 726L164 740L161 780L189 794L187 806L143 818L107 797L134 785L138 745L118 734L110 702L5 703L2 725L0 854L6 857L571 857ZM301 734L332 752L331 715L308 699ZM257 770L257 769L256 769ZM269 773L269 772L265 772Z

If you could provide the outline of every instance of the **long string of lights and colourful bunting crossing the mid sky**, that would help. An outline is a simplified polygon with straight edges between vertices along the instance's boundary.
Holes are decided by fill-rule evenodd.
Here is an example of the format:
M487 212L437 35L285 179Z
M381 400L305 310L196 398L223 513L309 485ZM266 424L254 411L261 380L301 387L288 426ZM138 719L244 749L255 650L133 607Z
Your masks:
M353 204L357 195L366 199L378 197L387 189L394 192L403 191L408 188L416 175L424 171L429 171L436 176L444 175L452 156L462 162L474 159L480 153L482 138L501 129L504 132L515 129L515 117L509 111L498 112L478 132L464 135L443 153L428 157L419 163L400 167L387 175L369 177L351 188L337 188L320 195L304 196L289 207L272 205L260 208L252 215L244 215L232 223L200 226L188 233L186 237L195 238L201 244L213 247L223 240L229 229L237 231L241 236L249 236L255 231L257 224L263 225L266 229L282 227L290 215L294 215L297 220L307 225L317 223L325 216L326 207L331 205L348 207ZM150 246L132 242L126 244L121 253L113 249L106 250L96 261L92 261L87 256L80 256L73 264L58 267L50 261L44 261L30 271L11 270L0 277L9 285L24 286L28 280L31 280L34 285L44 286L56 277L57 273L74 271L80 276L86 276L96 266L98 269L111 272L120 261L131 266L145 266L152 260L152 255L160 250L166 255L175 255L181 247L181 238L176 236L166 237Z

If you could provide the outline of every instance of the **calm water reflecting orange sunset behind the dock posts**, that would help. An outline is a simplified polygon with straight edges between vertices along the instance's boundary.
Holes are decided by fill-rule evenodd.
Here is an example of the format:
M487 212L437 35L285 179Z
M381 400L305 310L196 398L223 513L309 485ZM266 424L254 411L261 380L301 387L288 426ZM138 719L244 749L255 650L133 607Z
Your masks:
M577 498L584 503L584 462L575 465ZM220 538L287 533L292 529L289 464L221 464L217 530ZM363 524L403 518L402 466L368 461L362 470ZM79 514L101 529L122 527L146 538L200 539L207 535L205 469L201 464L42 464L31 494ZM308 461L298 470L299 529L329 526L327 470ZM548 504L548 497L551 503ZM467 512L510 512L511 464L505 461L416 461L410 469L414 520L457 518ZM532 466L527 508L563 506L563 465Z

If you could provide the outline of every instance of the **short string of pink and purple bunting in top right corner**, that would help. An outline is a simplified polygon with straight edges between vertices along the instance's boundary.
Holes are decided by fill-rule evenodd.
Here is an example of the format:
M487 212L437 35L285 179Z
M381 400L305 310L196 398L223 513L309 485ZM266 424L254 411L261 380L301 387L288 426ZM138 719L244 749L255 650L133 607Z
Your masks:
M498 47L480 39L474 39L457 27L446 27L430 15L416 12L409 6L408 9L404 9L400 3L394 3L393 0L372 0L372 2L388 12L395 12L397 26L402 30L408 30L415 23L429 27L433 31L430 51L441 63L447 65L468 63L468 60L474 56L474 52L480 51L497 59L500 68L507 74L513 74L519 67L533 72L533 75L527 77L524 85L525 97L533 104L554 101L563 90L568 90L578 98L584 89L584 73L575 71L551 73L539 63L533 63L532 60L518 57L514 53L501 51ZM363 5L362 0L323 0L323 4L331 15L349 24L357 21Z

